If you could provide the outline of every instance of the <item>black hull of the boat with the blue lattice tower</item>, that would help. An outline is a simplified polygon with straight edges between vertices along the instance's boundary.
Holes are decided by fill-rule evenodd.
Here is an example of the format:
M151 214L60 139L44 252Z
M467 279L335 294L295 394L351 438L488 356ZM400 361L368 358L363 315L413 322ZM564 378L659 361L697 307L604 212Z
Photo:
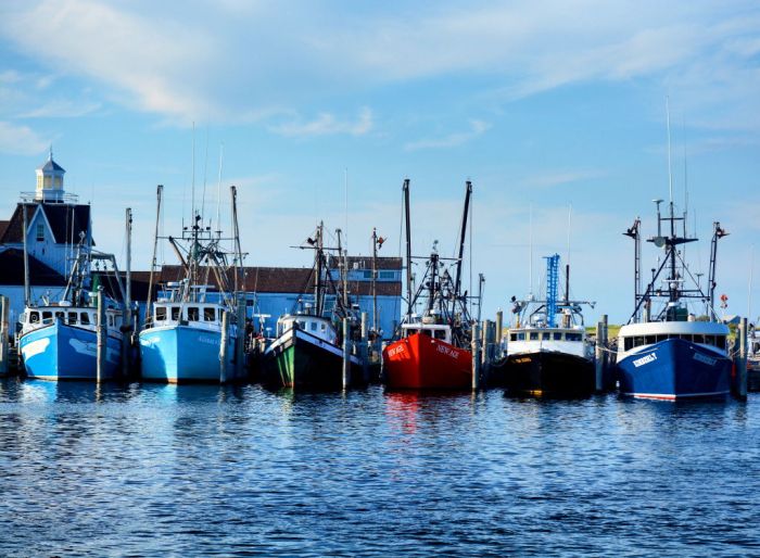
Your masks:
M595 384L594 363L578 355L540 351L509 355L504 364L504 385L515 394L590 395Z

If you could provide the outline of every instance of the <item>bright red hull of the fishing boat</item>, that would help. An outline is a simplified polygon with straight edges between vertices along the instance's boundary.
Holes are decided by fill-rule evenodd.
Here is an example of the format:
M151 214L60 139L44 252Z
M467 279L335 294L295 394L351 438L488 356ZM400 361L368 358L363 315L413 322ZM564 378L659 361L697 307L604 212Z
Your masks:
M391 390L466 390L472 386L472 353L415 333L383 348Z

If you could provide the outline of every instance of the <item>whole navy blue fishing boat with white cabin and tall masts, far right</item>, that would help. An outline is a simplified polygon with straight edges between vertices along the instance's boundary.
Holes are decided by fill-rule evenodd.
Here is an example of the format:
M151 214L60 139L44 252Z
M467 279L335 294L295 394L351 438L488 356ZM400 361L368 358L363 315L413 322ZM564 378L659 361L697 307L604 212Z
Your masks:
M648 241L664 254L643 292L639 289L641 220L636 219L625 232L635 241L635 307L618 335L620 391L634 397L668 401L724 397L731 390L730 330L718 318L713 303L718 241L727 233L720 223L714 223L705 293L683 259L684 244L697 240L686 236L686 214L675 216L671 194L669 212L663 217L661 202L655 200L658 230ZM683 234L676 231L677 220L684 221ZM663 223L669 228L664 233ZM666 276L661 278L663 272ZM687 280L694 284L689 287ZM691 312L689 303L704 304L699 318Z

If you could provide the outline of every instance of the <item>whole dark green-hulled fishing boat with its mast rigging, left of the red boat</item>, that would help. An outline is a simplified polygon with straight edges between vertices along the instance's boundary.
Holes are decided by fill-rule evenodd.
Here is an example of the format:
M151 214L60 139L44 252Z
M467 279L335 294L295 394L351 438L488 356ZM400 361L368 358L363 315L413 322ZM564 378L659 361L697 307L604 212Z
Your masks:
M314 304L301 304L300 312L281 316L277 320L276 338L267 346L263 356L264 383L283 388L307 390L333 390L343 386L343 347L342 339L333 325L337 320L353 316L344 304L344 297L339 293L332 276L328 272L324 245L324 225L320 224L314 238L308 239L306 246L315 253L314 267L307 283L314 279ZM339 253L341 249L338 249ZM335 306L326 314L328 286L332 288ZM349 355L351 384L366 383L362 360L353 354Z

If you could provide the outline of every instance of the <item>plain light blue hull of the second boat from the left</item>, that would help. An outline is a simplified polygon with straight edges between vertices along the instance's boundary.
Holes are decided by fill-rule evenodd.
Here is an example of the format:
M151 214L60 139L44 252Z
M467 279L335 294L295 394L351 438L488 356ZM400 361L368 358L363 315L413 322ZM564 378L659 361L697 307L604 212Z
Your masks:
M220 331L188 326L140 332L142 379L153 382L218 382ZM235 381L235 338L227 345L227 380Z

